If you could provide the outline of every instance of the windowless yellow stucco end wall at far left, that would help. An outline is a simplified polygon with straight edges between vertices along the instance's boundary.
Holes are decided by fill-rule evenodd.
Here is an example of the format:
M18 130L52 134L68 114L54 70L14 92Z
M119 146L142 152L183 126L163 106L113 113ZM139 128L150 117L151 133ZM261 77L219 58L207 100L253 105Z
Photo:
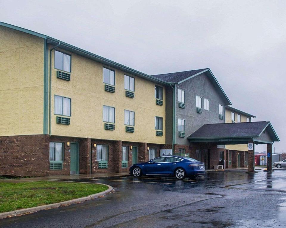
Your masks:
M0 136L43 134L43 39L0 26Z

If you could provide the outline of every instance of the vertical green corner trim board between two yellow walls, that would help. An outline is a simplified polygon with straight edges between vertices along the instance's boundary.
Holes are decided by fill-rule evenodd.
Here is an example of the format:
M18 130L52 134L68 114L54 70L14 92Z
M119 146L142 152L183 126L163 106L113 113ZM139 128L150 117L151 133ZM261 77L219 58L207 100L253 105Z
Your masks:
M43 134L48 134L49 116L49 48L47 40L44 39L44 97L43 97Z

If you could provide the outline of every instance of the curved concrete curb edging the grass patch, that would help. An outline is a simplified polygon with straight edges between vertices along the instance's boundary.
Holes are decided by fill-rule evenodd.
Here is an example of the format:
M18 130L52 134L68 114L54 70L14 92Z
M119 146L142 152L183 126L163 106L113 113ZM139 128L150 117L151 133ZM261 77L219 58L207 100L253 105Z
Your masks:
M48 180L51 181L51 180ZM54 180L52 180L54 181ZM66 182L66 181L58 181L58 182ZM73 182L73 183L86 183L86 182L78 182L78 181L69 181L69 182ZM101 183L88 183L88 184L101 184ZM81 197L81 198L77 198L77 199L73 199L73 200L67 200L64 202L59 202L59 203L53 203L53 204L47 204L47 205L42 205L42 206L38 206L38 207L34 207L34 208L25 208L25 209L21 209L21 210L14 210L14 211L9 211L9 212L3 212L0 213L0 219L4 219L7 217L13 217L13 216L20 216L20 215L24 215L24 214L29 214L29 213L34 213L40 210L47 210L47 209L52 209L52 208L58 208L58 207L63 207L63 206L67 206L73 203L80 203L80 202L84 202L87 200L93 200L96 199L100 196L104 196L107 193L111 192L113 190L113 187L107 184L102 184L105 186L108 186L108 189L96 194L92 194L86 197Z

